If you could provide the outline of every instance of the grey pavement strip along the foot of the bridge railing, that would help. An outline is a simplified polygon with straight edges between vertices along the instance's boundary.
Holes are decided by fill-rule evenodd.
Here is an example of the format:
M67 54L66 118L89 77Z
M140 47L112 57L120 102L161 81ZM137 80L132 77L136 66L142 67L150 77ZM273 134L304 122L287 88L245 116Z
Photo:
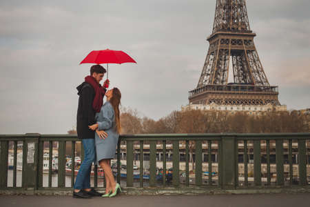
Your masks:
M74 199L72 196L0 195L0 206L67 207L67 206L134 206L134 207L198 207L198 206L310 206L310 194L254 195L118 195L113 198Z

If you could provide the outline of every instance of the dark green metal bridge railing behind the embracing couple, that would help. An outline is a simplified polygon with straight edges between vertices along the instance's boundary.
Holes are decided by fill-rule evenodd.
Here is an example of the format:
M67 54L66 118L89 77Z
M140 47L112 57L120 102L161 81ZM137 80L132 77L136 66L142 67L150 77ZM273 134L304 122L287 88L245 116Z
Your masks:
M308 186L309 173L309 141L310 133L276 133L276 134L156 134L156 135L122 135L116 149L116 180L122 182L123 187L166 188L167 186L181 188L197 186L204 188L249 188L270 186ZM74 170L76 157L76 143L81 142L76 135L0 135L0 188L3 190L32 189L45 190L55 188L52 186L52 155L53 144L57 144L58 155L57 185L56 189L72 190L74 186ZM45 144L48 143L48 148ZM66 175L66 145L71 145L72 164L70 175ZM147 146L147 147L145 147ZM9 150L10 148L10 150ZM22 150L22 163L18 163L18 148ZM67 149L67 153L66 153ZM8 158L12 154L12 185L8 185ZM48 185L43 185L43 157L48 151ZM143 159L145 151L149 153L149 161ZM167 152L172 152L172 179L168 180ZM126 163L125 181L121 177L121 154L125 152ZM158 159L158 153L162 155ZM55 153L54 153L55 154ZM70 154L70 153L69 153ZM83 159L83 149L81 149ZM134 155L138 154L138 159ZM194 155L194 168L190 154ZM170 154L169 154L170 155ZM184 160L180 162L180 155ZM203 155L206 155L203 157ZM217 159L213 159L216 155ZM47 156L47 155L46 155ZM45 156L45 157L46 157ZM293 162L295 156L296 161ZM240 159L242 160L240 161ZM251 159L251 157L253 159ZM271 172L274 164L271 157L276 157L276 174ZM264 159L262 159L264 158ZM139 162L139 170L134 169L134 160ZM286 161L287 160L287 161ZM262 163L262 161L264 163ZM285 163L286 161L286 163ZM149 162L149 169L145 169L143 162ZM157 164L161 162L162 170ZM180 163L185 168L180 171ZM192 164L192 170L189 166ZM285 172L285 165L289 166ZM240 168L241 166L241 168ZM242 167L243 166L243 167ZM21 167L21 185L17 185L17 172ZM266 178L262 179L262 167L267 168ZM298 170L294 171L294 168ZM254 175L249 175L249 168L253 168ZM205 170L204 170L205 169ZM145 179L147 170L147 179ZM273 170L274 171L274 170ZM138 175L137 177L134 177ZM297 174L296 174L297 173ZM158 175L161 174L161 179ZM242 176L243 175L243 176ZM276 181L273 182L273 175ZM66 178L70 177L70 185ZM183 176L184 182L180 182ZM46 176L45 176L46 177ZM98 188L98 167L94 166L93 186ZM253 179L250 179L253 178ZM46 178L45 178L46 179ZM169 181L172 180L172 183ZM194 182L192 181L194 180ZM135 184L135 185L134 185Z

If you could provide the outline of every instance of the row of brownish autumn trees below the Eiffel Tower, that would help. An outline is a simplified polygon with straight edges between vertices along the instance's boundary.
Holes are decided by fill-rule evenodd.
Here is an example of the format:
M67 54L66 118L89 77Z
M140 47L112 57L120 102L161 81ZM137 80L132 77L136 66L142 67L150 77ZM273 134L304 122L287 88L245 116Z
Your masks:
M231 115L231 112L183 110L173 111L158 121L141 118L136 110L121 114L123 134L309 132L309 121L309 115L298 111L273 111L257 116L244 112Z

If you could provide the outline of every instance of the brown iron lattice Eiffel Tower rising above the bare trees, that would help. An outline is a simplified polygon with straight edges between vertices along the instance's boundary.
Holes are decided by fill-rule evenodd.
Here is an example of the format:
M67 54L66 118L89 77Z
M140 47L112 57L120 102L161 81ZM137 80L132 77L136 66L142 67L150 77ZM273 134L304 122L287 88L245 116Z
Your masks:
M278 86L270 86L254 45L245 0L216 0L209 50L189 105L280 106ZM229 66L234 82L228 83Z

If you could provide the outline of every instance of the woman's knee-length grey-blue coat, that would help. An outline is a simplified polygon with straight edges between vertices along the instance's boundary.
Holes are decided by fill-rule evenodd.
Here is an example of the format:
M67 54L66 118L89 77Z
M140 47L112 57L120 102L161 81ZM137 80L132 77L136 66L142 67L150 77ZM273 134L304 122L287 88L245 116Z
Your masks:
M107 133L107 138L101 139L95 133L96 157L97 161L101 159L113 159L118 143L118 133L116 131L114 109L109 101L101 107L101 111L96 113L95 117L98 129Z

